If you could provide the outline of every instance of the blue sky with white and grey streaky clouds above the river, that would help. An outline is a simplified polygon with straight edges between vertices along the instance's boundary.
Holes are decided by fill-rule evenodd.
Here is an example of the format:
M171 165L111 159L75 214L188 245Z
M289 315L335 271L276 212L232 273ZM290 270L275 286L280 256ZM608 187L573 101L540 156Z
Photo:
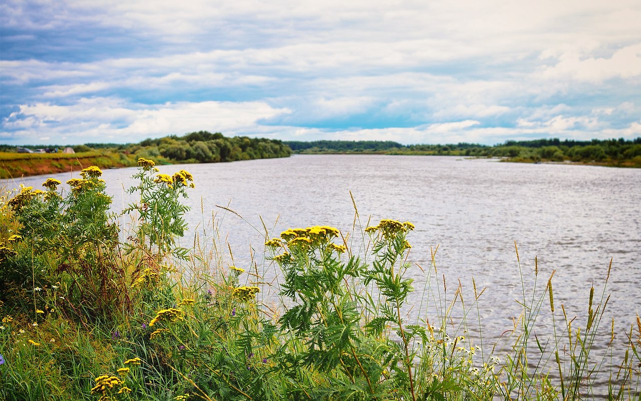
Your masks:
M0 0L0 143L641 136L639 0Z

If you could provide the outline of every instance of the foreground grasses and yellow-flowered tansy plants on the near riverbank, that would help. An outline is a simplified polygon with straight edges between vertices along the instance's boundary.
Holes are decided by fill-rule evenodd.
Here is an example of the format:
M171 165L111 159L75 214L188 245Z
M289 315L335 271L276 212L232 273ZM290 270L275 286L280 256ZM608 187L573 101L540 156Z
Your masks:
M438 284L435 250L431 266L412 265L412 223L358 228L354 205L351 235L312 226L272 238L263 227L270 256L238 267L217 235L178 246L190 173L140 158L138 200L119 214L101 174L3 192L3 400L582 400L597 375L609 375L608 398L638 399L638 316L622 361L591 354L609 323L605 284L587 289L578 317L555 307L553 277L522 284L510 345L492 349L467 332L487 295ZM276 284L263 279L269 268ZM408 318L408 269L426 275L418 316L437 318ZM559 309L551 338L534 336L540 314Z

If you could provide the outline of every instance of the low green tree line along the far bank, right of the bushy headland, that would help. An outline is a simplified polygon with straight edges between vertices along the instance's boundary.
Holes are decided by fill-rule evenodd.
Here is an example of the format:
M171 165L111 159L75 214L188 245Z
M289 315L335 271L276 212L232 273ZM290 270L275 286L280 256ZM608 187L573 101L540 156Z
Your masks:
M503 157L513 162L582 162L603 166L641 167L641 137L626 139L536 139L494 146L460 142L403 145L392 141L284 141L294 153L381 153L386 155L451 155Z

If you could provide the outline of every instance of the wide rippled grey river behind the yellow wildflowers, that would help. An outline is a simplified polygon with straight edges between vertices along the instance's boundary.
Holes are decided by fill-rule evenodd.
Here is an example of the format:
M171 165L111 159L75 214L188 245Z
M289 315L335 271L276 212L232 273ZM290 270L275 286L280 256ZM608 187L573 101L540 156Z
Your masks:
M190 246L194 232L203 234L204 230L210 235L213 213L219 232L231 245L235 264L249 268L249 255L254 253L254 262L267 276L272 273L263 262L260 218L271 236L290 227L330 225L353 234L354 244L361 241L360 232L368 219L374 224L385 218L411 221L416 229L409 237L413 246L409 260L431 271L433 291L440 286L438 291L443 292L444 277L445 296L451 299L460 279L469 305L474 298L472 278L478 291L487 287L479 298L479 312L476 308L473 312L474 319L481 319L485 350L513 328L512 319L520 313L517 300L523 297L521 283L534 285L535 257L537 294L556 270L557 324L563 323L558 320L563 304L569 318L578 316L575 324L584 328L590 286L596 289L596 304L612 258L607 288L612 298L604 315L603 334L595 340L595 352L604 350L610 341L611 316L615 317L618 356L617 349L624 349L625 332L641 315L641 169L385 155L295 155L160 166L163 173L181 168L192 173L196 182L187 201L192 207L187 216L192 232L182 244ZM134 171L104 171L116 210L130 201L123 188L133 183L129 176ZM61 181L70 177L53 176ZM42 181L42 176L24 179L34 187ZM350 191L362 225L359 228L357 223L355 230ZM430 267L430 248L436 246L438 273ZM426 276L414 266L409 274L415 278L417 295L408 320L415 321L418 314L434 319L435 305L420 301ZM454 312L454 318L460 314ZM474 319L469 336L479 341ZM541 339L551 328L547 300L539 320ZM599 381L603 384L608 378L609 373L603 373Z

